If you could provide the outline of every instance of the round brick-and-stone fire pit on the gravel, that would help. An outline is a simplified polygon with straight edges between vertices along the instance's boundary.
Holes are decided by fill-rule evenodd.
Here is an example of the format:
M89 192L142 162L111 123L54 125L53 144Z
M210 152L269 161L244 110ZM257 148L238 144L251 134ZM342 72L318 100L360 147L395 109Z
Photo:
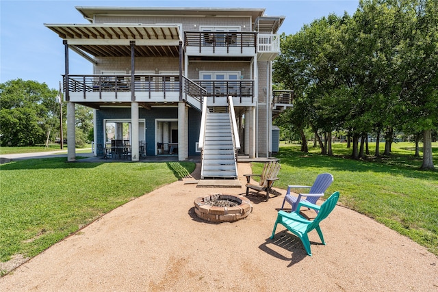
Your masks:
M194 200L194 212L209 222L233 222L248 217L253 211L250 200L244 196L213 194Z

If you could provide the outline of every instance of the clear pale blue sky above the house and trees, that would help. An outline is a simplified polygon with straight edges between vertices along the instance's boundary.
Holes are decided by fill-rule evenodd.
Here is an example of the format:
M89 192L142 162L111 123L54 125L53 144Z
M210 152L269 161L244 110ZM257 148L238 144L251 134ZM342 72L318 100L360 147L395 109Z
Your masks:
M294 34L302 25L330 13L353 14L359 0L240 1L20 1L0 0L0 83L34 80L58 89L64 74L62 39L44 23L88 23L75 6L266 8L268 16L285 16L279 33ZM70 74L91 74L92 65L69 52Z

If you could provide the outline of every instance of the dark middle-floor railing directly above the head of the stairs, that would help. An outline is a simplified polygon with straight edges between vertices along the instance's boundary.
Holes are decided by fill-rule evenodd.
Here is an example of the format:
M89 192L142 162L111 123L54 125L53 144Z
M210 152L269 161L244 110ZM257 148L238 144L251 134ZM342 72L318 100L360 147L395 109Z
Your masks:
M250 102L254 102L254 81L253 80L193 80L207 91L206 96L213 98L213 103L216 103L216 98L223 96L233 96L240 98L251 98Z

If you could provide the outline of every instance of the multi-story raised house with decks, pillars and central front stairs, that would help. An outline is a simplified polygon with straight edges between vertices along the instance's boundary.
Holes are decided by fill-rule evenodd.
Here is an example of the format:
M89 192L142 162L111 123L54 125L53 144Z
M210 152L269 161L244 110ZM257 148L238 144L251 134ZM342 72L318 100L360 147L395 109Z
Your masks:
M129 144L132 161L201 155L203 177L236 177L237 153L270 155L279 106L271 71L283 16L248 8L76 9L90 23L44 24L65 48L68 161L75 160L75 105L94 109L96 155L115 140ZM72 51L93 72L70 75ZM280 98L292 104L289 93Z

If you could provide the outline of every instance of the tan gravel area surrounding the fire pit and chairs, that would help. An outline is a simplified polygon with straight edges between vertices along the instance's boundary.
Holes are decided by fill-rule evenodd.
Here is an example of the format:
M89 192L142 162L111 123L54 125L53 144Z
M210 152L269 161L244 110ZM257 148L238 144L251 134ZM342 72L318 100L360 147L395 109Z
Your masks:
M321 224L327 244L311 232L307 256L281 225L269 239L284 190L269 202L249 196L245 220L209 224L195 198L245 189L192 180L108 213L0 278L0 291L438 291L437 256L355 211L337 206Z

